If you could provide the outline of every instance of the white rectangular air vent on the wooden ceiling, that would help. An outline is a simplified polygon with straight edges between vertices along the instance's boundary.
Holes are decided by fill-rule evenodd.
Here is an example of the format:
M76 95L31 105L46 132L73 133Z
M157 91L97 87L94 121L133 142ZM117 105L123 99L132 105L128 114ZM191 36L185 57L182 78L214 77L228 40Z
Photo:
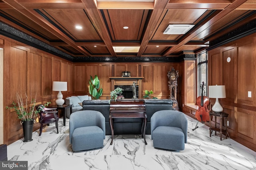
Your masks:
M189 24L172 24L164 30L164 34L185 34L190 30L194 25Z

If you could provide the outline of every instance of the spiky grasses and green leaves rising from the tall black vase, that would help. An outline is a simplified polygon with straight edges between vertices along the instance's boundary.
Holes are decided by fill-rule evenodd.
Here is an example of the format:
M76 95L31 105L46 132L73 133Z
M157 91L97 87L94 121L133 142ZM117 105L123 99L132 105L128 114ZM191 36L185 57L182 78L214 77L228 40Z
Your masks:
M38 112L40 112L40 109L35 109L36 106L36 99L32 98L30 99L30 104L28 104L28 96L25 93L24 94L26 101L23 102L23 96L22 94L16 93L16 99L17 103L12 102L12 107L6 106L6 109L14 109L16 111L16 114L18 115L18 118L21 120L21 123L23 121L31 121L34 120L34 117L37 115ZM44 104L44 106L48 106L51 102L47 102ZM16 106L18 104L18 106Z

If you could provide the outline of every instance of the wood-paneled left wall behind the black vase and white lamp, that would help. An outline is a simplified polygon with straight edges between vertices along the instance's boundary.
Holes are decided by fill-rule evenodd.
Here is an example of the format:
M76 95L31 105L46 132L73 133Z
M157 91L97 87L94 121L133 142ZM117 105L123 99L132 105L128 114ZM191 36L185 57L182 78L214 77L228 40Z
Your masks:
M0 39L4 48L3 142L10 144L22 138L23 131L16 112L5 106L16 102L16 92L26 93L29 103L31 98L36 98L37 104L54 104L58 92L52 91L52 81L69 81L68 91L62 94L64 97L73 94L73 63L3 36ZM34 124L34 130L39 127L38 122Z

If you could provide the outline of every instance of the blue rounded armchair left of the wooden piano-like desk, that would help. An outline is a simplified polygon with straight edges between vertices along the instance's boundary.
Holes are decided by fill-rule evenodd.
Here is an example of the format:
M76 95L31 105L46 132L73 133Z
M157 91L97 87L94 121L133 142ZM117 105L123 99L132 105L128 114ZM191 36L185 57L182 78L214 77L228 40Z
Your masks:
M106 137L105 117L99 111L82 110L70 115L69 137L72 150L103 147Z

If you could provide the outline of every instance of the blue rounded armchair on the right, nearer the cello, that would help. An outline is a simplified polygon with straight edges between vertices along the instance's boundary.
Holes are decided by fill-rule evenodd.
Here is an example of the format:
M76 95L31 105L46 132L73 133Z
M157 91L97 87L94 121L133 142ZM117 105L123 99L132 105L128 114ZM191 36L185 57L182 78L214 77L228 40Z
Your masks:
M188 120L184 113L174 110L156 111L150 121L154 147L169 150L185 149Z

